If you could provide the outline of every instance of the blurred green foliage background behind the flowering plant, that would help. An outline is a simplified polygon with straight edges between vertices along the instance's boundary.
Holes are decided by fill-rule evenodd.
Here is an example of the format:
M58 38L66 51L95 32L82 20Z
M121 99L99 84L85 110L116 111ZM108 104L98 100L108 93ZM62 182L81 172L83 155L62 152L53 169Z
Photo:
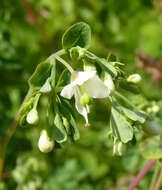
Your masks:
M162 99L161 85L136 65L137 49L162 59L160 0L1 0L0 2L0 135L12 122L36 65L61 49L65 29L84 21L92 28L90 50L101 57L109 52L126 63L129 74L140 73L140 88L149 100ZM40 115L46 99L41 99ZM109 106L96 101L91 128L78 116L81 138L52 153L37 147L40 127L21 128L9 143L0 190L125 190L145 160L138 143L128 144L123 157L112 155L108 138ZM42 121L40 125L46 125ZM148 189L152 171L137 190Z

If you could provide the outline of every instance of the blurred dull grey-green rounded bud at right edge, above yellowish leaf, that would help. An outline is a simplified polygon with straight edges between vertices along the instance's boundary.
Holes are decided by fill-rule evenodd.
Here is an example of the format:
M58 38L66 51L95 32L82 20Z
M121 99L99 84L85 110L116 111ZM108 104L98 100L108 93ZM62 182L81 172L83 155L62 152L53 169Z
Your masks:
M147 122L142 129L150 136L160 135L160 127L155 121Z

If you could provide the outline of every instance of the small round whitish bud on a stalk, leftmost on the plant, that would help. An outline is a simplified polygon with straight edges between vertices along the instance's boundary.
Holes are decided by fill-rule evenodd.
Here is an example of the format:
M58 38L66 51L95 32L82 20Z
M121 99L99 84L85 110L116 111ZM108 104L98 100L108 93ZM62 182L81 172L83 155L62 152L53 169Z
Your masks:
M31 125L36 125L39 121L38 112L36 109L30 110L26 117L26 121Z

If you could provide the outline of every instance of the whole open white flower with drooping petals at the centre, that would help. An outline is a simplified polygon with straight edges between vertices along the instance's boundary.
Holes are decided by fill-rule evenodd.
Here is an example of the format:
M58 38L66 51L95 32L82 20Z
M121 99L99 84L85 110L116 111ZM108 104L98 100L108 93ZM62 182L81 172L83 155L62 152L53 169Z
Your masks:
M61 96L71 99L75 97L75 107L88 123L88 109L80 103L81 97L87 93L92 98L106 98L110 89L97 76L96 71L74 72L71 83L61 91Z

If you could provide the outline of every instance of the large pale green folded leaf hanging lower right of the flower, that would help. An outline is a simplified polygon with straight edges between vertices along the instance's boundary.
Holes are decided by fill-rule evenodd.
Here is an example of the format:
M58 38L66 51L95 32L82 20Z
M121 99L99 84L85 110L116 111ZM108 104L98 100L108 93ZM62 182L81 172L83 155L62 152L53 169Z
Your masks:
M127 143L132 140L133 128L121 114L120 108L117 104L112 104L110 126L114 136L116 136L123 143Z

